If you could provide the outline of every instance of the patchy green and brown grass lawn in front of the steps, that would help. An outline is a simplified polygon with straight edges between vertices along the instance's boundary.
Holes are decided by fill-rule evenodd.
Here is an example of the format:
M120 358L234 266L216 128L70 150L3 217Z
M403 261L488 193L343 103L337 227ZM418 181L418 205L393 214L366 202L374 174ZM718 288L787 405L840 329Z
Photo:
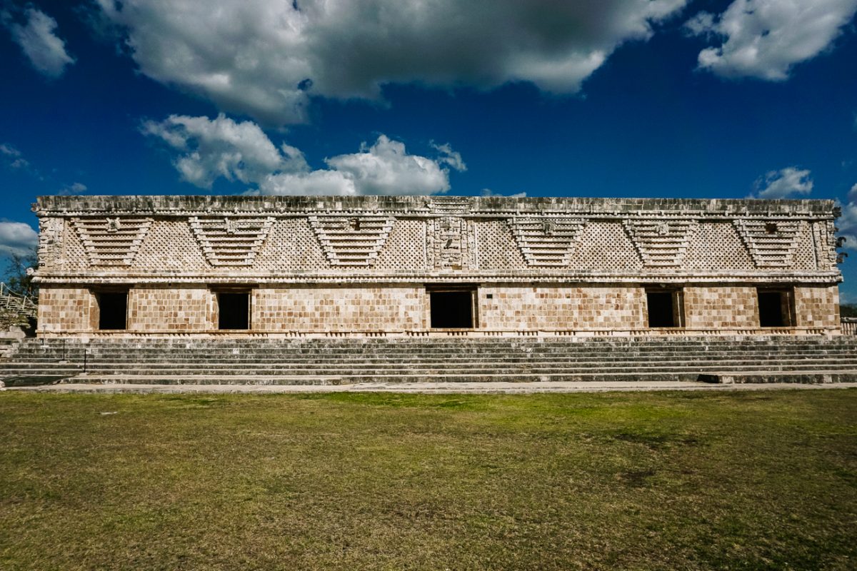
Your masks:
M853 569L857 390L7 391L0 568Z

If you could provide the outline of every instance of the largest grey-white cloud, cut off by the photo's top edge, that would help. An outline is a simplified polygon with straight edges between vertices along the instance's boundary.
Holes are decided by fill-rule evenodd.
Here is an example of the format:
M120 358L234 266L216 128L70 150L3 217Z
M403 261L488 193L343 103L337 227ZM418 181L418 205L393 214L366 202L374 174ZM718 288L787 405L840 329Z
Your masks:
M143 74L267 123L387 83L573 93L686 0L96 0Z

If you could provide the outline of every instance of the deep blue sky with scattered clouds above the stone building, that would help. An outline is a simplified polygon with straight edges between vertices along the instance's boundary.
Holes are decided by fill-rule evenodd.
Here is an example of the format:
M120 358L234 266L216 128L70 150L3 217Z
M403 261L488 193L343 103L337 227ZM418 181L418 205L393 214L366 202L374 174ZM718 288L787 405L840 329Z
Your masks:
M0 0L0 251L54 193L838 199L857 236L855 11Z

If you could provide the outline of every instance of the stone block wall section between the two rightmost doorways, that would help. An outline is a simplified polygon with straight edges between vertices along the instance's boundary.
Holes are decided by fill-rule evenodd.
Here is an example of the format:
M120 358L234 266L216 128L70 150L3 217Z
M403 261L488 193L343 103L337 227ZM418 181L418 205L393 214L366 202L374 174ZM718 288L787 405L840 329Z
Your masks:
M758 327L758 295L754 287L688 287L684 294L689 329Z

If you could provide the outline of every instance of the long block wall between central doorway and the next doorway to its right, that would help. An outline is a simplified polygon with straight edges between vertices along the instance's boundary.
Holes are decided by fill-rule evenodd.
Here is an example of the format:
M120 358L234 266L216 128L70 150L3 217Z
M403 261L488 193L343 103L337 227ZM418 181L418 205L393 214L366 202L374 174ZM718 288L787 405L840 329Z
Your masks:
M479 288L478 317L483 329L640 329L645 327L645 292L622 285L489 285Z

